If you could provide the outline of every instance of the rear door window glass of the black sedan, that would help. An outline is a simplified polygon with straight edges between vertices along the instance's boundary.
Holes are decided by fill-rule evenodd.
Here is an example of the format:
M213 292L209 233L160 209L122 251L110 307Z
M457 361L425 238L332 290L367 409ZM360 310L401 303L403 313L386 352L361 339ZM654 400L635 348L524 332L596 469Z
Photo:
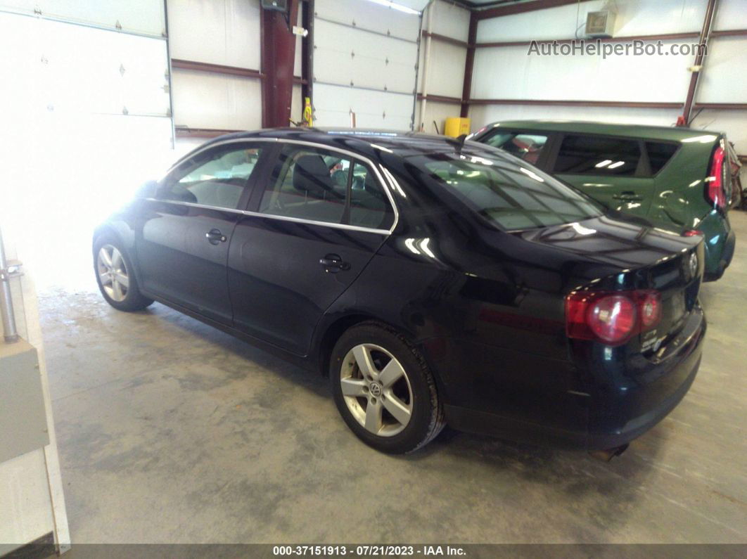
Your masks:
M343 154L293 144L281 149L259 212L375 229L394 220L368 166Z

